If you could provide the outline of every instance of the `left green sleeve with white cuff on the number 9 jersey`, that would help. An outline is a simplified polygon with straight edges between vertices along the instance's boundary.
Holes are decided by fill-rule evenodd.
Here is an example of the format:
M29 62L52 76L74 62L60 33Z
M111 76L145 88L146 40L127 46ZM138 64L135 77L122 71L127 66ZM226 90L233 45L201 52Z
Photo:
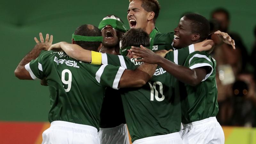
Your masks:
M49 57L52 55L52 51L44 52L36 60L31 60L25 65L26 70L30 76L36 79L43 79L45 77L45 69L49 65Z

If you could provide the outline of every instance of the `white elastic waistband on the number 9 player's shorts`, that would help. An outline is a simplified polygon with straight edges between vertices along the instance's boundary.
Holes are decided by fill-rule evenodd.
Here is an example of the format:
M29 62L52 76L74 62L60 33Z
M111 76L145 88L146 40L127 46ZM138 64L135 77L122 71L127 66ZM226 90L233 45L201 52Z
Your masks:
M66 122L66 121L53 121L51 123L51 126L67 126L67 127L72 127L72 128L78 128L78 129L84 129L84 130L89 130L93 132L98 132L97 128L90 126L90 125L85 125L85 124L76 124L76 123L71 123L71 122Z

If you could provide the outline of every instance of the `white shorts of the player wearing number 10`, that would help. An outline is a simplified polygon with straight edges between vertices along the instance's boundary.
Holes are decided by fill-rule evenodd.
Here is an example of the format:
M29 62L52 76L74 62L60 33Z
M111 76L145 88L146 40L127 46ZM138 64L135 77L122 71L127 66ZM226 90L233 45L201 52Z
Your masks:
M132 144L182 144L179 132L135 140Z

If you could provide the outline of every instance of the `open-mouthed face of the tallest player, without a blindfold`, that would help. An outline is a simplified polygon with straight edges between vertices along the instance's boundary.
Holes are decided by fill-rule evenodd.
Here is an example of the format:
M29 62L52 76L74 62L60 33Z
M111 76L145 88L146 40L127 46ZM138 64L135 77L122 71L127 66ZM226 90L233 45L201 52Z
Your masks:
M141 0L133 0L129 4L127 20L130 28L142 28L145 30L147 27L150 12L147 12L143 7L141 7L141 4Z

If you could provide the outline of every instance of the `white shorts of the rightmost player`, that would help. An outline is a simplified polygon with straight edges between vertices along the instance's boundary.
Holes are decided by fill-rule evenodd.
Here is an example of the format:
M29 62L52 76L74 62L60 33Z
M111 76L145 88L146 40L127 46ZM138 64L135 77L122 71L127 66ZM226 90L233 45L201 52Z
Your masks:
M183 144L224 144L224 132L216 117L183 124L180 131Z

